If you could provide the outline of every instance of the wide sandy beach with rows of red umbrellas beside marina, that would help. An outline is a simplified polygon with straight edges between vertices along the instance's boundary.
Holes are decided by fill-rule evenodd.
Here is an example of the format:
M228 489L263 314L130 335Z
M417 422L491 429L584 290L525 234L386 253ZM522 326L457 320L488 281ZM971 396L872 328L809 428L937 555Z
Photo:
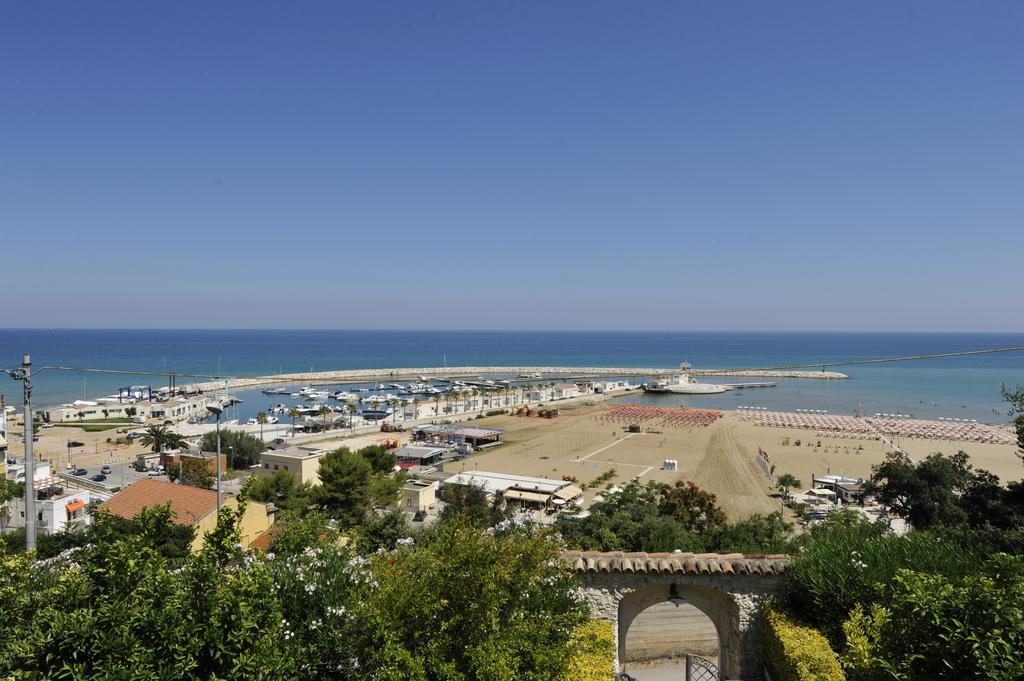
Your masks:
M778 501L768 496L768 477L755 461L759 448L771 456L776 474L792 473L805 486L813 474L867 477L871 466L892 451L886 442L866 437L827 437L809 430L755 426L740 421L733 412L723 413L707 427L651 426L657 432L630 434L624 432L622 424L607 422L605 415L611 409L602 406L563 412L550 420L499 416L474 421L474 425L505 429L507 444L449 464L445 470L477 468L550 478L569 475L590 482L614 469L611 482L617 484L633 477L663 482L693 480L718 497L730 518L741 518L779 509ZM790 443L783 444L786 438ZM795 444L798 439L801 446ZM914 459L963 450L975 467L995 473L1004 482L1024 476L1015 448L1008 444L904 438L900 445ZM678 470L663 470L666 459L678 460ZM599 491L587 490L587 502Z

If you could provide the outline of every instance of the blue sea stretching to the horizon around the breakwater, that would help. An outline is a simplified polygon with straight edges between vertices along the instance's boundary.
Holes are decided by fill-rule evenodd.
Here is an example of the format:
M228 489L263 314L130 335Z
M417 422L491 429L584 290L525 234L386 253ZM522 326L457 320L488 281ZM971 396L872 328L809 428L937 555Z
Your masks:
M342 369L457 366L773 367L1024 345L1024 334L736 333L529 331L0 330L0 366L32 354L45 365L152 372L261 375ZM777 388L720 395L638 395L634 400L734 409L823 409L1007 421L999 385L1024 384L1024 352L840 367L848 381L780 380ZM755 379L703 379L741 382ZM179 379L179 383L181 380ZM166 377L45 371L34 381L42 408L167 384ZM20 385L0 375L0 392L20 405ZM247 419L280 396L238 392L232 417Z

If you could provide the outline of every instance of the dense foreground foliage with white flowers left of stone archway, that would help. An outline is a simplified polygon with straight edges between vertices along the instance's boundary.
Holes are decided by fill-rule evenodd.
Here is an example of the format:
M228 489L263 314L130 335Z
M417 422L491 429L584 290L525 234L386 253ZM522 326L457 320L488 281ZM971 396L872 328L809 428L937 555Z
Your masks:
M572 677L586 611L546 531L444 523L368 559L319 513L265 555L243 554L237 521L178 559L166 508L50 560L0 551L0 677Z

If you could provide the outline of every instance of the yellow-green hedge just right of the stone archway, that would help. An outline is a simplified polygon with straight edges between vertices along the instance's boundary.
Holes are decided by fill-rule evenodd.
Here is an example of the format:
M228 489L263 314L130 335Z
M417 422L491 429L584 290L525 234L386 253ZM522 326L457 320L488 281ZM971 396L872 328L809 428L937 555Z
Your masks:
M772 681L845 681L839 656L821 632L766 603L764 652Z

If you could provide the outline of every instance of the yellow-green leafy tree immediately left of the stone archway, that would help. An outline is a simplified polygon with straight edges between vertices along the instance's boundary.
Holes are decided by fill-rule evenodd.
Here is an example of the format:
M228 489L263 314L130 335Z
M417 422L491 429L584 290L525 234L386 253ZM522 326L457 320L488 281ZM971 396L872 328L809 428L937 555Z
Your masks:
M567 671L587 608L549 535L444 523L370 564L351 601L366 678L548 681Z

